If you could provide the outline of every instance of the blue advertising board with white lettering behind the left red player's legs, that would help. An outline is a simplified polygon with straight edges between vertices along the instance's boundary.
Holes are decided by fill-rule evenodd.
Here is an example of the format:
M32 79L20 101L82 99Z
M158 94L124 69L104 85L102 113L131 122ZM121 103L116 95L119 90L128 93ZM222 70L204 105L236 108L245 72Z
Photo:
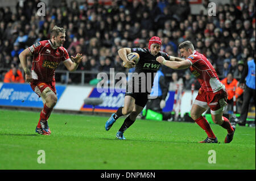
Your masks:
M56 86L57 98L63 94L65 86ZM24 83L3 83L0 89L1 106L43 107L42 99Z

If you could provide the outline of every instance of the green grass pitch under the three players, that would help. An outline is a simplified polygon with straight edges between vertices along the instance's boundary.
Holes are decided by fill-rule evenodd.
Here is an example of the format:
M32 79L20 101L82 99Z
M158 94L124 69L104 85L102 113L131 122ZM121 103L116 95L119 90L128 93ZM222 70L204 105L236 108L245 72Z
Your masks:
M124 118L105 131L108 117L52 113L51 136L35 133L39 112L0 110L0 169L255 169L255 128L212 125L219 144L199 144L207 134L195 123L137 120L115 139ZM46 163L38 163L44 150ZM208 163L209 150L216 163Z

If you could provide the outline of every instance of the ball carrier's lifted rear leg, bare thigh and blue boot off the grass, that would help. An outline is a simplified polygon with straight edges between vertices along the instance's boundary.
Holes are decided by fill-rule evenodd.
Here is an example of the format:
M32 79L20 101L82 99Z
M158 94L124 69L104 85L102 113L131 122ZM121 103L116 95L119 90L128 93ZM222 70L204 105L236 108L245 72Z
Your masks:
M126 95L123 107L119 107L117 112L113 113L109 117L108 121L106 121L106 124L105 124L106 131L109 131L109 129L112 127L112 125L115 123L115 121L119 117L128 115L129 113L131 113L133 111L134 105L135 105L135 99L130 95Z

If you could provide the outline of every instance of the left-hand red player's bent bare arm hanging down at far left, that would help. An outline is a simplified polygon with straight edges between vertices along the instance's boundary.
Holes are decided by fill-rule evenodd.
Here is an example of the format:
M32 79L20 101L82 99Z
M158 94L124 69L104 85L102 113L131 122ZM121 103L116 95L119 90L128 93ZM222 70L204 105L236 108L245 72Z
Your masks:
M27 49L24 49L19 54L19 61L20 61L20 64L22 65L22 68L24 70L26 82L31 82L32 81L32 75L31 75L30 69L27 66L27 57L28 56L32 56L32 54L31 54L30 50L28 50L28 48L27 48Z

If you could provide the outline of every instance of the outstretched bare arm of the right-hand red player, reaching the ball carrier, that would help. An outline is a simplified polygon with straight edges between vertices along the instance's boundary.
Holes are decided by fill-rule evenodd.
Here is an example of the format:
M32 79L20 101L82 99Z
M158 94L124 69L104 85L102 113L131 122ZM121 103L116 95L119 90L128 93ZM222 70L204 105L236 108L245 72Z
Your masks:
M168 66L168 68L171 68L171 69L187 69L189 68L189 66L191 66L191 63L188 60L181 59L181 61L174 61L174 60L168 61L168 60L165 60L164 57L162 56L157 57L156 61L158 61L160 64Z

